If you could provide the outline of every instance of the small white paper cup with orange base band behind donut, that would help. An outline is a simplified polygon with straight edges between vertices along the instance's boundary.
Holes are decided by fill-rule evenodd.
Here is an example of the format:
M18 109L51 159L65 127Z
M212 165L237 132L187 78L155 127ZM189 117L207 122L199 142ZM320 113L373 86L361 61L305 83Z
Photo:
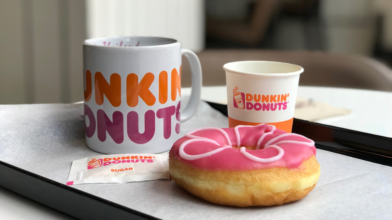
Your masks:
M239 61L226 71L229 127L266 123L291 132L301 66Z

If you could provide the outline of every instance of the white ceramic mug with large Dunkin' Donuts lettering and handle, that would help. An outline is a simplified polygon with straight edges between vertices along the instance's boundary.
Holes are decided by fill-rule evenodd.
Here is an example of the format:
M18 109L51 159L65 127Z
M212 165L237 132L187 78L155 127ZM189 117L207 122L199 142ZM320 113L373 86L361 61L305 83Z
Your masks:
M189 103L180 114L181 56L192 72ZM198 57L174 39L114 37L83 44L87 146L97 152L160 153L196 111L202 86Z

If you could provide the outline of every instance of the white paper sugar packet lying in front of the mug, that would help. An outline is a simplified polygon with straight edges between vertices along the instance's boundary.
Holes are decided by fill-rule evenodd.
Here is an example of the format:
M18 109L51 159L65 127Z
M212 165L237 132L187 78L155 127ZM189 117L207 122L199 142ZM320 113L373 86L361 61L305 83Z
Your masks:
M170 179L168 154L112 154L72 162L67 185Z

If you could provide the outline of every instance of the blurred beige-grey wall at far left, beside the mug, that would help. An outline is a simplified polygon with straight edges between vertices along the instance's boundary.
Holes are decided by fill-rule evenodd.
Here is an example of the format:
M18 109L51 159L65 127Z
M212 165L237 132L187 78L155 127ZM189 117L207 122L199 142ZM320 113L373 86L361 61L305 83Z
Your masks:
M2 0L0 30L0 104L82 100L84 1Z

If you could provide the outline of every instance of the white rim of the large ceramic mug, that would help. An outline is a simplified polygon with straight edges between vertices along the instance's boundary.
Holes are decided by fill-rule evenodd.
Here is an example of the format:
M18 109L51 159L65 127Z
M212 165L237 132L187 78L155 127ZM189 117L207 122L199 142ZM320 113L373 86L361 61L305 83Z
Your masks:
M94 42L110 40L110 39L129 39L129 38L140 38L140 39L156 39L156 40L165 40L168 43L157 44L157 45L144 45L144 46L106 46L106 45L97 45ZM179 44L179 42L173 38L166 37L155 37L155 36L115 36L115 37L98 37L98 38L89 38L83 41L83 46L91 46L97 48L116 48L116 49L148 49L148 48L160 48L160 47L170 47L174 44Z

